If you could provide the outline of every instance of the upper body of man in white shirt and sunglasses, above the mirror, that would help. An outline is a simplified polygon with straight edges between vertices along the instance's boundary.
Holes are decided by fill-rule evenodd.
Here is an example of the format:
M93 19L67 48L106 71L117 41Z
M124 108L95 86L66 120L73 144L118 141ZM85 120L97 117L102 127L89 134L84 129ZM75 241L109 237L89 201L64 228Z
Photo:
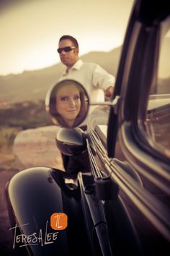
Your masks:
M58 43L58 54L60 54L61 62L66 66L66 71L59 81L77 80L84 85L92 101L101 101L101 95L103 95L101 90L104 91L106 97L112 95L115 77L98 64L81 61L76 38L71 35L63 35Z

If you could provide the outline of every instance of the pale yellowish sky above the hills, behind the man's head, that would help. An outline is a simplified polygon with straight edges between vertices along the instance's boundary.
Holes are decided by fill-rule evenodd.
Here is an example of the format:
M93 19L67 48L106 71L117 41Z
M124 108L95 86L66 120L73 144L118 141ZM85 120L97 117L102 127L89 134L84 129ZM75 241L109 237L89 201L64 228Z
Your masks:
M133 0L6 0L0 6L0 75L60 62L62 35L79 42L80 56L120 46Z

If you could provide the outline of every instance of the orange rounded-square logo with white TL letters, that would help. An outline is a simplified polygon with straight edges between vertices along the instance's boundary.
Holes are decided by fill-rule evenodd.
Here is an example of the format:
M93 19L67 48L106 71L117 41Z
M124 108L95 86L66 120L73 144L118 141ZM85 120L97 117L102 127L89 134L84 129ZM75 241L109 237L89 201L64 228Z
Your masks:
M63 230L68 226L68 217L66 213L53 213L50 216L50 226L54 230Z

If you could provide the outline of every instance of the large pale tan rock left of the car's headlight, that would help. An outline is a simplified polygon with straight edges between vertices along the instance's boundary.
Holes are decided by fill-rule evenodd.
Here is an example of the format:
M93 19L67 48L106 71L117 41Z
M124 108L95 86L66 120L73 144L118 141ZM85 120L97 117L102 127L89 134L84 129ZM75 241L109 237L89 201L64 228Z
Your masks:
M55 145L58 129L48 126L19 132L13 145L17 167L45 166L64 170L61 153Z

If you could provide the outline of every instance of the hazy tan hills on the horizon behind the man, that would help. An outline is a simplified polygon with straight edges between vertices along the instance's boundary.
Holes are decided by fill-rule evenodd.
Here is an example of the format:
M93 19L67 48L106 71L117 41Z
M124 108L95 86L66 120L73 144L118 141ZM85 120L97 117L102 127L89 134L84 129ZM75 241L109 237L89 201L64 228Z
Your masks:
M81 59L95 62L115 75L120 51L121 48L115 48L109 52L91 52L81 56ZM45 99L48 88L58 80L64 69L63 64L59 63L45 69L0 76L0 102L16 103Z

